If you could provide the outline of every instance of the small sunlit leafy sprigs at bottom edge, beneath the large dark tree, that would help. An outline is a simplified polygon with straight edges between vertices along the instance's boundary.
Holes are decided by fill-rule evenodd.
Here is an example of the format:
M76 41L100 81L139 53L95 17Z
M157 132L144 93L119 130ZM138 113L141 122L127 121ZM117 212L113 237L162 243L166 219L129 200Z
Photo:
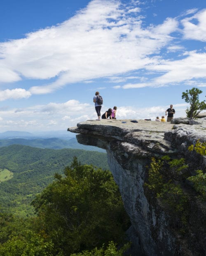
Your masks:
M83 251L78 254L71 254L70 256L123 256L124 252L128 250L130 247L130 244L124 244L124 246L120 249L117 249L117 244L115 244L113 241L109 242L108 246L105 248L101 247L100 249L95 248L91 251Z

